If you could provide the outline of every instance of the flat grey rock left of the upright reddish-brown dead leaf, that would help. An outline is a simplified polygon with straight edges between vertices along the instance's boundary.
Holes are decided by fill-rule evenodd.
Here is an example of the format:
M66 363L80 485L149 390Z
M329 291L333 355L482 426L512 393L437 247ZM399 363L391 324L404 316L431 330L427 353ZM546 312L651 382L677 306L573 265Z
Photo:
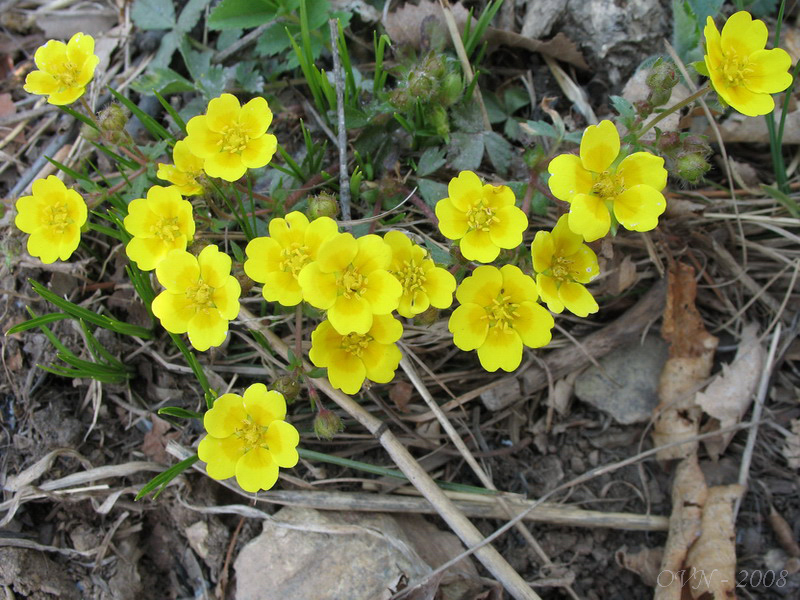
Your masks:
M648 421L658 404L658 381L667 343L655 335L601 358L575 380L575 395L619 423Z

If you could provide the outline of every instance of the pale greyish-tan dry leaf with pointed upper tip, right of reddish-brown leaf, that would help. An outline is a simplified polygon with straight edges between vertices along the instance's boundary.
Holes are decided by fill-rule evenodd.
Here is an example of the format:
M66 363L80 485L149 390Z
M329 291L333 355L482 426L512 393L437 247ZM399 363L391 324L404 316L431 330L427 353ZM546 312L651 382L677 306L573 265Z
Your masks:
M765 356L764 348L758 340L758 325L746 325L742 330L736 358L730 365L722 365L722 373L711 382L705 392L698 392L695 396L697 405L719 423L716 429L735 425L750 408L764 368ZM704 442L712 458L716 460L724 452L734 433L723 433Z

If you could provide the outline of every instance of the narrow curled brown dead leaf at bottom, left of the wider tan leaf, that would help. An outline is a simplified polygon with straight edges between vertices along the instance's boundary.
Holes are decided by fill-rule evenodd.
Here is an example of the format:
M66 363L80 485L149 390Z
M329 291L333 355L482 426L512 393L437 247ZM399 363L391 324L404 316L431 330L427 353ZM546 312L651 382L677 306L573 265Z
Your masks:
M697 455L692 455L675 470L669 535L659 573L673 575L683 569L689 547L700 536L703 505L707 495L708 488L697 463ZM679 576L663 577L656 583L655 600L680 600L682 581Z

